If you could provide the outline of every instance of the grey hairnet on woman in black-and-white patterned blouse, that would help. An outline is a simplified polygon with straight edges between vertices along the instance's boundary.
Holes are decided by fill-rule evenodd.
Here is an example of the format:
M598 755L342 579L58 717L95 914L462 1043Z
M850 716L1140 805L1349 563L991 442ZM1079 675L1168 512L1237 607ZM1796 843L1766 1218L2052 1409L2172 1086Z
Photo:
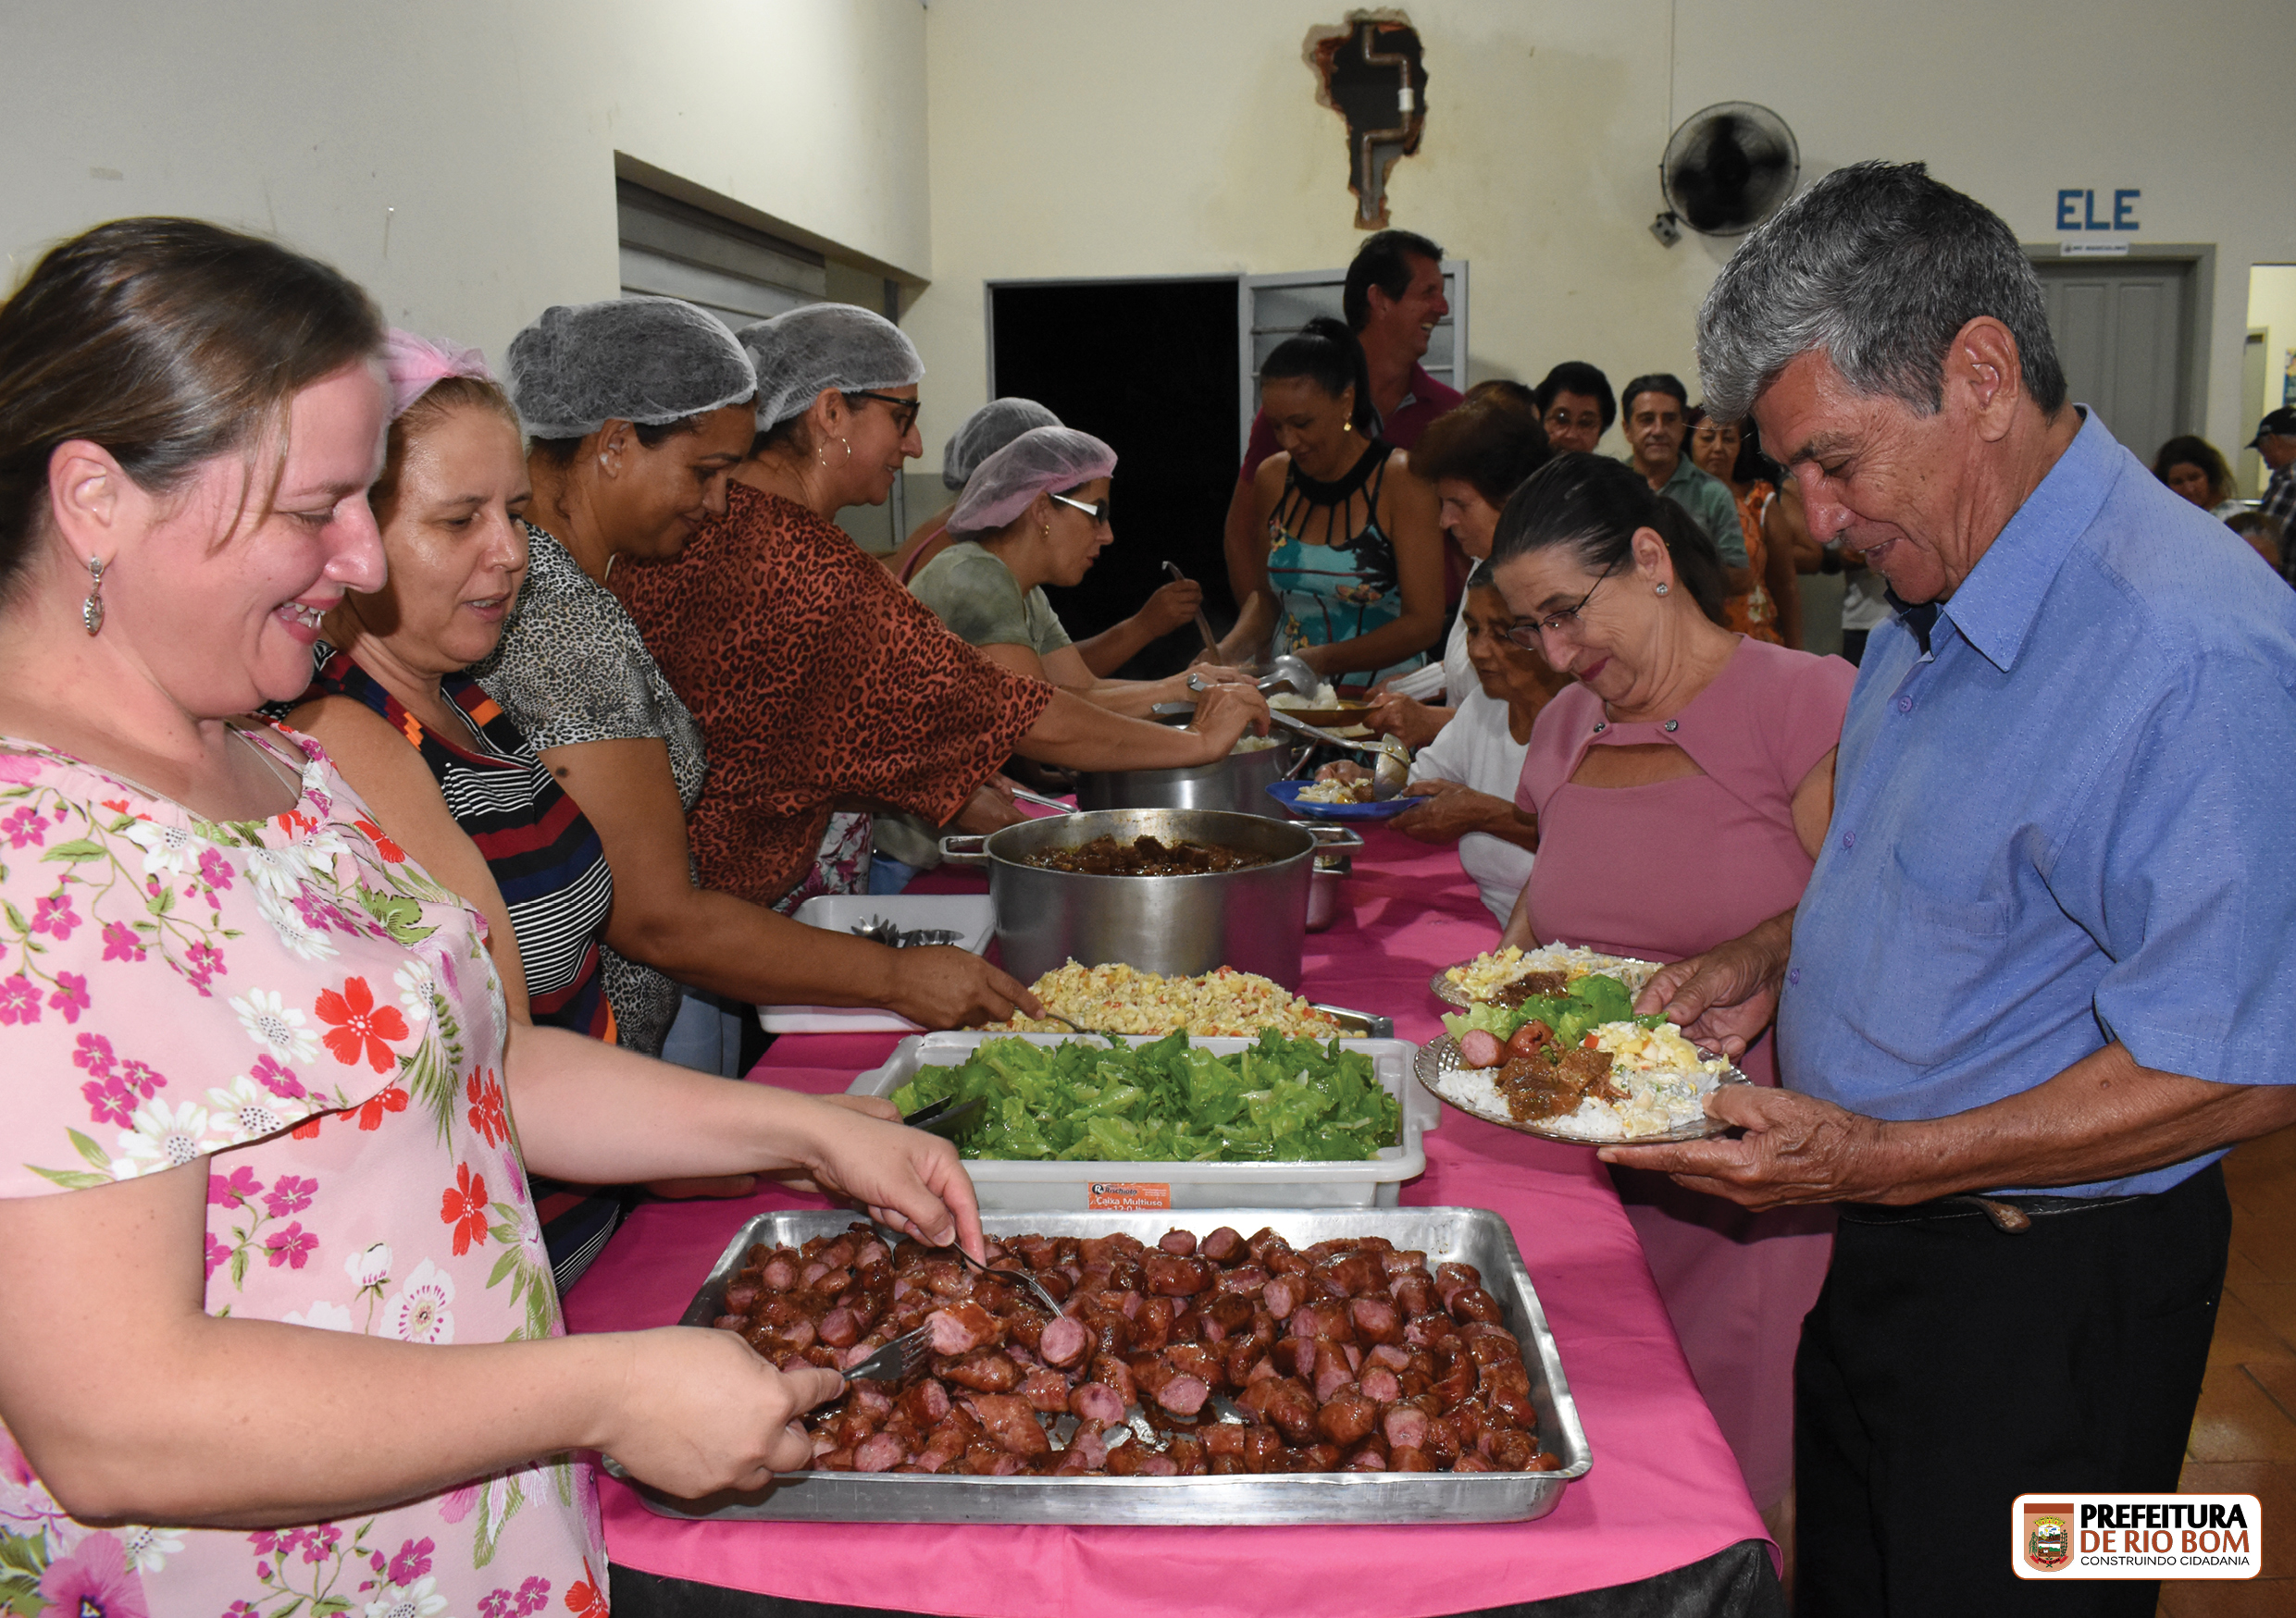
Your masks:
M558 303L510 340L510 402L533 438L666 427L755 390L732 333L680 298Z

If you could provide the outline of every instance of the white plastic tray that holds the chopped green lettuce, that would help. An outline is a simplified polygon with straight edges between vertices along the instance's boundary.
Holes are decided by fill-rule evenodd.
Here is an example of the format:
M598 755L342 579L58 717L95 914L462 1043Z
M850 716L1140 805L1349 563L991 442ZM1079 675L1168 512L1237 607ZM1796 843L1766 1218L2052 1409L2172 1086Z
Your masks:
M852 1095L893 1095L918 1067L957 1067L983 1040L1061 1044L1072 1033L925 1033L902 1040L884 1067L847 1086ZM1137 1044L1146 1044L1141 1035ZM1196 1040L1228 1056L1251 1040ZM1442 1122L1442 1104L1412 1081L1419 1047L1410 1040L1345 1040L1371 1058L1380 1086L1403 1102L1403 1143L1359 1164L1038 1164L969 1157L983 1212L1081 1212L1148 1207L1396 1207L1405 1180L1426 1173L1421 1134Z

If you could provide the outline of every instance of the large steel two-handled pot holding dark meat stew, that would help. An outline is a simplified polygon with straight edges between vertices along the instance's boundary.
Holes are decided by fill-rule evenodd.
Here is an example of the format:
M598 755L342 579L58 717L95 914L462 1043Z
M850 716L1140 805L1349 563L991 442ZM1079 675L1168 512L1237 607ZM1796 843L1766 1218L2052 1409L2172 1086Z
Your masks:
M1104 863L1077 854L1097 838L1130 851L1139 849L1139 838L1155 838L1166 849L1199 845L1212 858L1226 851L1254 863L1173 877L1102 877L1033 863L1045 856ZM1123 962L1166 978L1233 966L1297 989L1320 842L1295 822L1148 808L1054 815L985 838L941 838L941 856L987 865L996 946L1003 969L1022 982L1075 959L1084 966Z

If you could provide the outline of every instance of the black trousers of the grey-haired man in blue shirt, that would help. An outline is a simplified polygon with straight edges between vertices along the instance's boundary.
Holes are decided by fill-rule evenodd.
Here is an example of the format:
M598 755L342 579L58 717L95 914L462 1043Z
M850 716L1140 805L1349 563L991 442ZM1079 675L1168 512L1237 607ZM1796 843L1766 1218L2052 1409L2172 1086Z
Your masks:
M2124 1200L1841 1209L1795 1359L1802 1618L2131 1613L2142 1579L2009 1570L2030 1492L2170 1492L2225 1285L2223 1168Z

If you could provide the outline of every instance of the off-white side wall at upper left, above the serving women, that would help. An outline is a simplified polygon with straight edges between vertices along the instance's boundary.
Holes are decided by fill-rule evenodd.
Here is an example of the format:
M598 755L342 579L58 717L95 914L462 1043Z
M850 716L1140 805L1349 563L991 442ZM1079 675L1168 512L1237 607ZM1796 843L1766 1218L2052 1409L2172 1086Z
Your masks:
M271 230L482 344L615 294L615 154L923 278L916 0L0 0L14 285L122 213Z

